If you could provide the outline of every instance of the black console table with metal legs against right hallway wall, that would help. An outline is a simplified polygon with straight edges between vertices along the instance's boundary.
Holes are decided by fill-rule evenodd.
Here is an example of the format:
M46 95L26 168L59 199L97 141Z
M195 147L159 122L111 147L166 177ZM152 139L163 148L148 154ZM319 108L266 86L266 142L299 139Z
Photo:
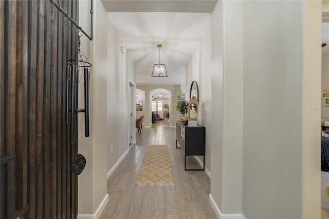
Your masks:
M184 122L176 121L176 148L177 141L185 154L185 170L205 170L205 126L188 126ZM186 169L186 156L204 156L203 169Z

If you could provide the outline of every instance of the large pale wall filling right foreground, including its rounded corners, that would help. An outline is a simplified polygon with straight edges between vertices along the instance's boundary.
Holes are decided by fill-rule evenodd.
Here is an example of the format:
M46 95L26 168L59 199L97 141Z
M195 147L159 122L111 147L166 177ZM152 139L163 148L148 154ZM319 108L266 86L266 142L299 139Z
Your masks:
M320 6L224 1L212 13L218 216L320 218Z

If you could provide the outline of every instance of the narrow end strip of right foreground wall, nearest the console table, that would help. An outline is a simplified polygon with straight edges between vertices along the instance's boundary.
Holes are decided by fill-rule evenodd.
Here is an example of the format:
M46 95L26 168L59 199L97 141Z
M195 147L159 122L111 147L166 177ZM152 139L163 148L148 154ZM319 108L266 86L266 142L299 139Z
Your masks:
M222 207L223 194L223 1L211 14L211 180L210 195Z

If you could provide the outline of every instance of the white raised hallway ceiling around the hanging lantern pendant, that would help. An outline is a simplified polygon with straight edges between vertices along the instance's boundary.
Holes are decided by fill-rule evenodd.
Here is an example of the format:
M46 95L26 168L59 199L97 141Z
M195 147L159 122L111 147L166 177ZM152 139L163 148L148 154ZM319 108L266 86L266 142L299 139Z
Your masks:
M181 84L185 65L210 25L210 13L109 12L122 45L137 66L137 84ZM168 78L152 78L154 64L165 64Z

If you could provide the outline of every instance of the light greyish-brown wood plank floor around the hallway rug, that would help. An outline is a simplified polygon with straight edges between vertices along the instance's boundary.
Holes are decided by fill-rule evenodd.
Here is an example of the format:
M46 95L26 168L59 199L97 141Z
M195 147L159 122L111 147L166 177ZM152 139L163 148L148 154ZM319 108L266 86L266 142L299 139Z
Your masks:
M136 145L107 180L109 200L100 218L217 218L209 202L209 177L204 171L184 171L184 154L176 149L175 137L167 120L143 127L141 135L136 131ZM174 186L135 184L150 144L168 145ZM200 168L193 157L187 160L188 168Z

